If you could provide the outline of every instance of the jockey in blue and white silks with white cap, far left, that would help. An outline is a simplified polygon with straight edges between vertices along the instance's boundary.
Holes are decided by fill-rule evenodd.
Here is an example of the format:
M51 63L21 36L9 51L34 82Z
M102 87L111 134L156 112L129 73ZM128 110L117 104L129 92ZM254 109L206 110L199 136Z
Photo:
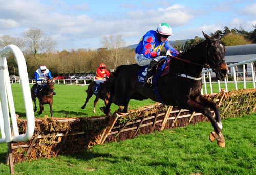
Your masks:
M37 84L35 88L35 96L37 95L37 93L42 87L46 86L46 82L47 82L46 78L52 79L52 74L50 70L46 68L45 65L42 65L40 66L39 69L35 71L35 81ZM56 92L53 91L53 95L56 95Z

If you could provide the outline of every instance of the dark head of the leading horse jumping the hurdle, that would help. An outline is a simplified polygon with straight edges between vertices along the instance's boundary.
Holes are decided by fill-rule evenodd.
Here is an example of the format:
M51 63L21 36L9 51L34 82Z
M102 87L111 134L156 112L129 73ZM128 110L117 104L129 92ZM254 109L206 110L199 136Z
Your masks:
M227 63L225 61L225 47L221 44L220 35L210 37L203 32L206 38L206 63L215 72L217 79L222 80L226 77L228 72Z

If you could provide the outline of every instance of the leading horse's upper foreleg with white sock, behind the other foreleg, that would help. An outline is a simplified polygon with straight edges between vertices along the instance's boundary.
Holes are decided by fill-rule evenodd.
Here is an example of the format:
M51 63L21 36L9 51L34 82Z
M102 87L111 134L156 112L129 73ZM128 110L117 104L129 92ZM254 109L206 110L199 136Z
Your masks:
M202 106L208 107L208 108L211 108L211 109L214 110L215 119L217 121L217 124L222 129L221 116L220 116L220 107L216 103L214 103L212 101L209 101L209 99L203 97L202 95L200 95L199 99L200 99L199 103Z

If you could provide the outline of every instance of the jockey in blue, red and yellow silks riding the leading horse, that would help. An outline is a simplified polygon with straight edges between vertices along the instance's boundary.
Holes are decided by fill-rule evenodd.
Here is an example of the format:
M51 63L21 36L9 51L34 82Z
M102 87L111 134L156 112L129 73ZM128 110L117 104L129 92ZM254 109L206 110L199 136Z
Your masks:
M152 74L154 67L166 55L176 56L179 52L170 46L168 37L173 35L172 28L167 23L161 23L157 30L148 31L135 49L135 59L138 65L148 65L147 75L143 87L152 86ZM165 47L167 51L161 51Z

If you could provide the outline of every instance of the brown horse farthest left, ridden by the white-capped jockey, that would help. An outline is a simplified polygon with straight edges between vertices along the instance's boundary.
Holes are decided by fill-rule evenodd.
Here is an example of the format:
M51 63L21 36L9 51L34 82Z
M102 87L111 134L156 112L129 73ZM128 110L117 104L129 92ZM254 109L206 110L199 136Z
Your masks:
M47 78L47 82L46 82L46 86L42 87L41 90L38 89L38 93L35 96L35 88L36 88L37 84L34 84L31 88L31 97L32 100L34 101L35 107L34 107L34 112L37 110L36 107L36 97L39 100L39 104L40 104L40 111L38 111L37 113L40 115L42 114L42 111L44 110L44 104L49 104L50 106L50 113L51 113L51 117L53 116L52 114L52 103L53 103L53 90L54 90L54 82L53 79L48 79Z

